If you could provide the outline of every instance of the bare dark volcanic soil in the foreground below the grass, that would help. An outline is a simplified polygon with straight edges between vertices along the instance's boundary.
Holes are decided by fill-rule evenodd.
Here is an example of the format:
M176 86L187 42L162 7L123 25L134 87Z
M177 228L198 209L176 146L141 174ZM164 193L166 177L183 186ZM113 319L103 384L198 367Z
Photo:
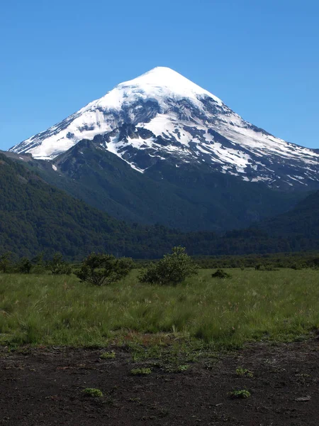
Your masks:
M0 353L0 425L319 425L319 341L254 344L187 371L130 370L130 354L37 349ZM253 378L238 377L238 366ZM84 396L99 388L103 398ZM228 393L246 388L250 398Z

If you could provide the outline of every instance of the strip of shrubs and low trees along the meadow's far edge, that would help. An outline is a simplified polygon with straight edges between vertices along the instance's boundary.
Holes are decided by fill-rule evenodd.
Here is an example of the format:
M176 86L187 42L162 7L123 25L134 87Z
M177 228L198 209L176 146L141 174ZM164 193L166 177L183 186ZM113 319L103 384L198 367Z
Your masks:
M16 258L12 253L0 255L0 273L74 275L81 282L91 285L108 285L125 278L133 268L140 270L140 283L176 285L187 277L196 275L199 268L217 269L213 278L230 278L223 268L254 268L257 271L274 271L277 268L319 268L318 253L279 253L252 256L204 256L191 257L181 246L173 247L157 261L133 261L132 258L116 258L113 254L94 253L81 263L68 263L61 253L45 259L43 253L33 258Z

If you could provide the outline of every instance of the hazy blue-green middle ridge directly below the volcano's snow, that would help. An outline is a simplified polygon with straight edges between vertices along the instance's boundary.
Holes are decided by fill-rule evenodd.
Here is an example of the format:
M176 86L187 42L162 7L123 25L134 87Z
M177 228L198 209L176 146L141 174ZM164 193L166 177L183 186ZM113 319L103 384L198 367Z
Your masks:
M213 172L207 165L170 160L138 173L101 148L104 136L80 141L54 160L27 161L50 184L117 219L163 224L182 231L218 233L286 212L304 193L278 192L263 182L245 182ZM6 153L19 160L21 155ZM52 168L53 167L53 168Z

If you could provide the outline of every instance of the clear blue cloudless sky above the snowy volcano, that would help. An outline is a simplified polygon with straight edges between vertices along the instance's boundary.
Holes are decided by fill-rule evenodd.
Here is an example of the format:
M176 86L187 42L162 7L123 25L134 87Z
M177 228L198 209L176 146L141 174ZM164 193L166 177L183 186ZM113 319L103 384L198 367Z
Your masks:
M319 148L318 0L16 0L0 11L0 149L156 66Z

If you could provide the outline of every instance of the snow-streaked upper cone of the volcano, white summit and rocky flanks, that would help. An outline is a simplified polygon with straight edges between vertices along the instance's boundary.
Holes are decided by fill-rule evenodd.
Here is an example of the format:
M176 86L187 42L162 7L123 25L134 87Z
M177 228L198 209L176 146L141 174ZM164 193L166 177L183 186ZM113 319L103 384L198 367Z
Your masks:
M118 84L101 99L9 151L53 160L82 139L140 172L164 160L205 163L242 180L272 187L319 182L319 154L253 126L179 73L156 67Z

